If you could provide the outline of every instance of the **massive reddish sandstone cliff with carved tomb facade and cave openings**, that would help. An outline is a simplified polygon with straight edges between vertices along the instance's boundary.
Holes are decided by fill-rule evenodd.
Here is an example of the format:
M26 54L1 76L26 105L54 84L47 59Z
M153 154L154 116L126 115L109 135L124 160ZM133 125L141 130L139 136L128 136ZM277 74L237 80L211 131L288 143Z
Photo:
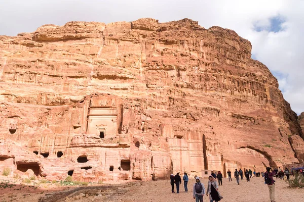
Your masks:
M302 162L297 116L250 57L189 19L0 36L0 169L98 182Z

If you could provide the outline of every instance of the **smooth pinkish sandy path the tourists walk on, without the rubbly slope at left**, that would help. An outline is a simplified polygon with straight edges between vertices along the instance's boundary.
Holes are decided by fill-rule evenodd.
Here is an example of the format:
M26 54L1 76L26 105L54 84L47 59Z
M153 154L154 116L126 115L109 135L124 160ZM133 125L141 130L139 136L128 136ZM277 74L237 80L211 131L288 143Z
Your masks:
M203 179L205 187L207 179ZM171 193L171 185L169 180L145 182L140 187L132 187L129 192L118 198L113 198L107 201L123 201L123 202L139 202L139 201L195 201L193 199L193 184L194 179L191 179L188 185L188 193L184 192L183 183L180 187L180 193ZM206 187L207 189L207 187ZM263 178L252 178L250 182L241 180L240 185L237 185L235 179L229 182L228 179L223 179L223 185L219 187L221 195L224 197L221 201L229 202L264 202L270 201L268 187L263 183ZM209 201L208 197L204 196L204 201ZM105 201L105 200L95 200ZM304 189L290 189L283 180L276 182L276 202L287 201L304 201Z

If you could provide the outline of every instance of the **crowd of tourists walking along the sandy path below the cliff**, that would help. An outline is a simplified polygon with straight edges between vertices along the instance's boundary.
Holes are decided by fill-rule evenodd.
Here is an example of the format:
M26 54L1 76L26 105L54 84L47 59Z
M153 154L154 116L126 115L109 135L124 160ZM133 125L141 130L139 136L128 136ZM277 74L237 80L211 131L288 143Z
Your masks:
M289 170L287 168L285 168L284 171L282 171L282 169L279 167L279 169L275 168L272 169L270 167L266 168L265 172L252 172L251 169L246 169L246 171L244 172L244 175L246 177L246 181L250 182L250 178L253 178L252 174L255 177L264 177L264 183L268 185L269 188L269 195L270 195L270 200L271 202L275 202L275 180L273 179L274 176L276 176L277 178L279 178L280 173L283 172L283 175L288 176L287 179L289 179L289 175L291 175L291 173L289 172ZM303 173L303 170L300 171L301 173ZM232 177L231 177L231 171L228 170L227 171L228 174L228 178L229 181L232 181ZM240 184L240 177L241 180L243 179L243 171L242 169L235 169L234 172L234 177L236 178L236 181L238 183L238 185ZM196 183L194 183L193 185L193 198L196 199L196 202L203 202L203 195L206 193L207 196L209 196L209 200L210 202L217 202L219 200L221 200L223 197L220 195L220 193L218 192L218 188L219 185L222 185L222 178L223 175L220 171L218 171L218 173L214 173L213 171L211 172L211 175L208 177L209 181L208 181L208 186L207 186L207 191L205 190L205 186L204 184L201 182L200 178L195 176L196 179ZM173 174L171 174L170 176L171 179L171 186L172 186L172 193L175 193L174 191L174 184L176 185L176 192L179 193L179 185L181 184L181 177L179 176L179 173L177 173L175 176ZM188 192L188 188L187 188L187 184L189 181L188 175L187 173L184 173L184 176L182 177L183 181L184 181L184 190L185 192ZM217 182L217 180L218 182Z

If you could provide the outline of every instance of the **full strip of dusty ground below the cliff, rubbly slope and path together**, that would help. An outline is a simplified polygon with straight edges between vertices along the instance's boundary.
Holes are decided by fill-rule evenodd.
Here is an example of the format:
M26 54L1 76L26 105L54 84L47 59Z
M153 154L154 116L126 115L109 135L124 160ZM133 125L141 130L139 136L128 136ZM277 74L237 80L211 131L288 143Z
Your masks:
M207 179L202 180L207 184ZM4 188L8 183L8 187ZM33 185L35 183L35 185ZM89 184L89 186L58 186L52 183L39 183L39 180L24 184L18 180L6 177L0 178L0 202L4 201L195 201L192 197L192 186L194 179L188 185L189 192L185 193L183 186L180 193L171 193L169 180L151 182L128 182L123 184ZM60 190L60 192L59 192ZM229 182L223 179L223 185L219 191L224 197L221 201L250 201L263 202L270 201L268 187L264 185L263 178L252 178L250 182L241 180L237 185L236 181ZM207 196L204 196L204 201ZM304 189L290 189L283 180L276 183L276 201L304 201Z

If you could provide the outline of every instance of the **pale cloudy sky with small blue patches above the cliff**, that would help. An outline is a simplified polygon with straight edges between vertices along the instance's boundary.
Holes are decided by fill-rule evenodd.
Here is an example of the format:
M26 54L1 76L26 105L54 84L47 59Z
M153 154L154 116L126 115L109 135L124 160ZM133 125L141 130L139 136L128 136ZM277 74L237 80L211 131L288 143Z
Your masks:
M278 78L297 114L304 112L303 0L0 0L0 35L32 32L44 24L68 21L168 22L190 18L205 28L235 30L252 43L252 58Z

